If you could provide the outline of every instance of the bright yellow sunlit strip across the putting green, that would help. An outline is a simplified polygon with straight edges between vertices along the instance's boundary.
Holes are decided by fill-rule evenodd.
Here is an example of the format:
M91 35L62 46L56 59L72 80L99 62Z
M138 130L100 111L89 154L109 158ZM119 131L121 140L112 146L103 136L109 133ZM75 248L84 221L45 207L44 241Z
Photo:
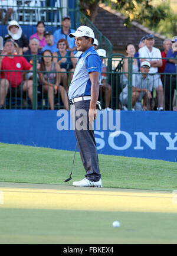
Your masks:
M172 193L1 188L0 208L177 213Z

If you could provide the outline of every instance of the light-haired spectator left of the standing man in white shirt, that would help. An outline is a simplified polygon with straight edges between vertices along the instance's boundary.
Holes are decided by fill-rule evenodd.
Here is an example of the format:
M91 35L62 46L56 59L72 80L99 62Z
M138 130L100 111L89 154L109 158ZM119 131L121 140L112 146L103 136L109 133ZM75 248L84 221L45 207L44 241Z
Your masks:
M121 77L120 83L122 84L122 88L128 85L128 72L129 72L129 58L128 57L134 57L135 55L135 46L133 44L127 44L126 45L126 53L127 53L127 58L123 60L123 75ZM133 59L133 66L132 66L132 72L136 73L138 72L138 62L137 59Z

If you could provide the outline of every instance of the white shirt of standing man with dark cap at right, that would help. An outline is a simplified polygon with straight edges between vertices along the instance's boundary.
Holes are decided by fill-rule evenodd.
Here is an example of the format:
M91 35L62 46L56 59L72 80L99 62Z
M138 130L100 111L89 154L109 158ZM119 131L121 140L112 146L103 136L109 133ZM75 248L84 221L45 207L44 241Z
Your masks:
M148 49L147 46L143 46L139 49L139 57L146 59L147 61L159 60L159 59L150 59L150 58L162 58L160 50L156 47L152 47L152 51ZM158 67L150 67L149 73L157 73Z

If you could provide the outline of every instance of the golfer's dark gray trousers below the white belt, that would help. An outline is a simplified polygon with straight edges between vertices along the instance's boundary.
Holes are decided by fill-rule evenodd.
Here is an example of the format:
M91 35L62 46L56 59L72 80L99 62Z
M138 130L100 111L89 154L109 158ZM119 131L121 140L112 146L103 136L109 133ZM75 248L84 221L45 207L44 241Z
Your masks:
M79 101L71 105L71 118L73 119L78 150L86 170L86 178L91 182L98 182L101 174L97 154L94 130L89 126L90 100Z

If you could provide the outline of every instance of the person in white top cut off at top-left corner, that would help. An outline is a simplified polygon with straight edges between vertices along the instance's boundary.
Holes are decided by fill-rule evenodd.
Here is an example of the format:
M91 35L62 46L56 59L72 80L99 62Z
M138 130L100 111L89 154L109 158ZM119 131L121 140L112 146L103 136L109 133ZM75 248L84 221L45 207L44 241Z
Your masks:
M15 0L0 0L0 7L5 7L6 9L4 20L2 20L2 12L4 11L4 9L0 9L0 22L2 24L6 24L6 21L11 18L13 8L17 7L17 2Z

